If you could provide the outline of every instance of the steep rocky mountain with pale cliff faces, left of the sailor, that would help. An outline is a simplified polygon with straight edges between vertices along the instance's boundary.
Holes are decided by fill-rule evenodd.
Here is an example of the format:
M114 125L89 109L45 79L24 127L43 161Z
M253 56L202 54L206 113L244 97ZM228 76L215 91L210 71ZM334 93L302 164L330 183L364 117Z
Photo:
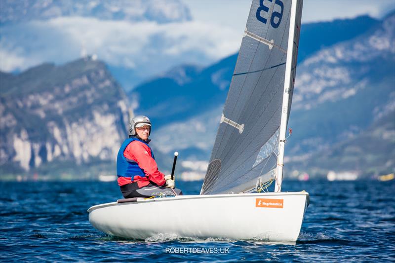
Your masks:
M128 102L103 62L87 57L1 73L0 87L1 177L114 174Z

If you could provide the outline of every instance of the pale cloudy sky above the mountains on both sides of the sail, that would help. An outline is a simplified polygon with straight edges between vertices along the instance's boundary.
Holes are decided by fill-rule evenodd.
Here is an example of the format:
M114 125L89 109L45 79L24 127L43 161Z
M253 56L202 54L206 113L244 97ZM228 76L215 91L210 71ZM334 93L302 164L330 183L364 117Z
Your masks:
M79 58L83 47L112 67L133 71L129 79L134 82L122 83L131 88L173 67L208 66L237 52L251 0L181 1L190 8L192 21L158 24L63 16L0 26L0 70L67 63ZM361 14L382 18L394 9L395 0L305 0L302 23Z

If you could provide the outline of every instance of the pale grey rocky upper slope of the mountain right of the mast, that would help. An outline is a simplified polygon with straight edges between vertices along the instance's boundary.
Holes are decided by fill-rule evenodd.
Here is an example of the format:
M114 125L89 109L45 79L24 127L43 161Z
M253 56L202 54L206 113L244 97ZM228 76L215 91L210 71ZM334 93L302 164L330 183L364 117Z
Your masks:
M395 15L352 40L318 51L298 66L293 110L353 96L373 67L394 61ZM387 73L387 70L383 69Z

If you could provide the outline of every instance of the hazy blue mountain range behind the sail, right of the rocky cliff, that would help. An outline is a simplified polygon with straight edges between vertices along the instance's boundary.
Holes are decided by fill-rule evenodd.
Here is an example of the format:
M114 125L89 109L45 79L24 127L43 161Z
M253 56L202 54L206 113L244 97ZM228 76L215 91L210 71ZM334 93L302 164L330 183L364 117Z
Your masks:
M383 21L362 16L355 20L336 20L333 24L308 25L306 35L325 40L318 44L310 39L315 43L300 44L302 56L289 122L293 135L285 148L285 173L298 169L326 175L330 170L346 169L368 176L394 169L393 155L378 154L389 149L391 152L395 147L388 122L395 119L391 112L395 103L394 20L395 14L391 13ZM358 28L358 23L363 26ZM344 25L349 26L349 32L347 27L339 29ZM336 38L337 31L339 38ZM153 135L156 136L153 144L160 151L179 150L184 160L208 160L236 58L236 55L228 57L198 74L193 72L188 76L186 73L189 80L181 84L168 74L128 93L138 105L137 113L153 117ZM387 122L378 121L383 115L388 116ZM384 137L390 136L385 141L388 147L375 144L378 137L374 134L378 131L382 131ZM363 140L366 146L377 145L377 150L359 145L353 161L348 165L334 165L342 158L347 159L347 154L339 149L357 146ZM376 163L363 161L368 152L377 153ZM324 153L331 154L333 161L324 164L324 157L315 159L315 156L329 159ZM357 164L356 159L363 165ZM317 173L316 167L320 164L322 169ZM379 166L385 169L377 169Z

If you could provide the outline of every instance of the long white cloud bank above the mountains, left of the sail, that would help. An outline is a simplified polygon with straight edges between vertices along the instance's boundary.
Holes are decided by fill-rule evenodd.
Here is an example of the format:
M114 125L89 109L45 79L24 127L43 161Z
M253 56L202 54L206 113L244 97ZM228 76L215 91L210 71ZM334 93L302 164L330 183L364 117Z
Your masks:
M241 37L232 28L197 21L158 24L59 17L2 27L0 69L31 67L26 61L65 63L78 58L83 46L110 65L151 76L180 63L207 64L233 54Z

